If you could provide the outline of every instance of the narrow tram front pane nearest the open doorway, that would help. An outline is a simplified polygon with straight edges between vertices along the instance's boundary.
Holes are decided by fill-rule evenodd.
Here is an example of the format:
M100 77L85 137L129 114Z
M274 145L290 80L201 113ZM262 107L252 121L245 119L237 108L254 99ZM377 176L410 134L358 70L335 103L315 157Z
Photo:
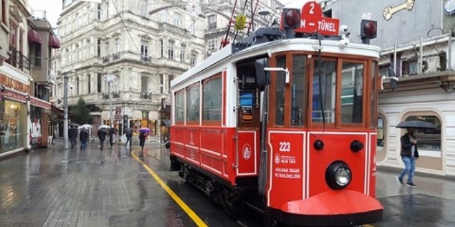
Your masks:
M276 67L286 67L286 56L276 58ZM285 73L276 72L275 125L284 125Z

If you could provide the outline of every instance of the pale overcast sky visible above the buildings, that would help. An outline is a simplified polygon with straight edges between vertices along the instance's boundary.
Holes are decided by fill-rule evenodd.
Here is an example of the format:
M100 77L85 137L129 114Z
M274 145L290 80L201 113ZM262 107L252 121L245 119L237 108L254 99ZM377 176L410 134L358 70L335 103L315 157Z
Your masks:
M291 3L294 5L295 3L299 4L299 1L304 0L279 0L281 3ZM46 18L52 25L52 27L57 27L57 20L59 19L59 15L61 13L61 0L28 0L28 5L32 8L32 10L43 10L46 12ZM303 3L301 3L303 6Z

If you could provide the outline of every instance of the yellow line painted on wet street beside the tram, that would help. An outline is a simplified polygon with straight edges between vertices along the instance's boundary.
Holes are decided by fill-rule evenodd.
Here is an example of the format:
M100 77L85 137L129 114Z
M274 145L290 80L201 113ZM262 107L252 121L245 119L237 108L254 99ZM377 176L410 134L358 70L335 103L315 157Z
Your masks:
M174 199L174 201L177 204L179 204L179 206L183 210L185 210L185 213L187 213L188 216L190 216L190 218L194 221L194 223L196 223L197 226L208 227L208 225L205 224L205 222L201 219L201 217L196 215L196 213L194 213L194 211L190 208L190 206L185 204L185 202L183 202L183 200L179 197L179 195L174 193L174 191L172 191L172 189L167 184L165 184L165 182L163 182L163 180L161 180L161 177L159 177L159 175L157 175L154 171L152 171L152 169L150 169L150 167L147 164L145 164L143 161L141 161L139 158L137 158L135 151L132 151L131 154L139 163L142 164L142 166L144 166L144 168L148 171L148 173L150 173L150 175L152 175L152 177L156 180L156 182L158 182L158 184L164 188L164 190L170 195L170 197L172 197L172 199Z

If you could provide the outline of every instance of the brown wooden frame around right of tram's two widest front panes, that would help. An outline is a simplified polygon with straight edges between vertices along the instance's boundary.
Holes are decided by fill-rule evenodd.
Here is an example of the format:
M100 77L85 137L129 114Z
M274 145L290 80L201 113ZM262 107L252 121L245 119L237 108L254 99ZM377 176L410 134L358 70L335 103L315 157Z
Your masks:
M338 111L335 111L336 112L336 116L338 119L336 119L336 125L342 125L343 127L359 127L359 126L363 126L364 123L365 123L365 117L367 116L367 113L366 113L366 108L365 108L365 105L367 104L367 98L368 98L368 93L367 93L367 89L368 89L368 84L367 84L367 81L368 81L368 77L367 75L367 72L369 72L368 70L368 64L367 64L367 61L365 60L356 60L356 59L351 59L351 58L340 58L340 65L339 65L339 71L338 71L338 77L337 77L337 85L338 87L336 88L337 91L337 101L338 103L336 104L336 109L338 109ZM344 67L345 67L345 64L356 64L356 65L362 65L362 71L361 71L361 84L358 84L358 85L361 85L361 109L360 109L360 114L361 116L359 116L356 120L357 121L354 121L354 120L350 120L350 121L347 121L347 122L343 122L344 118L343 118L343 89L347 89L349 87L346 87L345 85L343 85L343 70ZM354 72L355 73L355 72ZM353 78L354 78L354 81L356 80L357 75L353 75ZM355 89L354 89L355 91ZM353 92L354 92L353 91ZM354 100L352 102L352 109L354 109ZM354 116L354 112L352 113L351 115L351 118ZM360 120L360 121L358 121Z

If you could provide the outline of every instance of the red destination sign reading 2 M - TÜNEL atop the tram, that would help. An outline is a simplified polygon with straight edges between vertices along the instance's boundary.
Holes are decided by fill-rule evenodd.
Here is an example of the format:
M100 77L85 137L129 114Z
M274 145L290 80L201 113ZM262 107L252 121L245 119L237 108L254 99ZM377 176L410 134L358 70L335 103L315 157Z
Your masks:
M340 21L330 17L323 17L323 12L319 3L310 1L303 5L301 10L300 28L296 28L294 32L299 33L314 33L319 32L326 36L338 35Z

